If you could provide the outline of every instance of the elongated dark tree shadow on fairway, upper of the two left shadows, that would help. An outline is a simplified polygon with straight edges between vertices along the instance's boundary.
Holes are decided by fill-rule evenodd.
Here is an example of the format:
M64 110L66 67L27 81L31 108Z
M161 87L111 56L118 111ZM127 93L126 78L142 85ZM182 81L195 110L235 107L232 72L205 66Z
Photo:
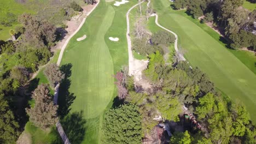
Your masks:
M68 112L71 110L70 106L75 99L74 93L69 92L71 81L68 78L72 74L71 68L72 68L71 63L62 65L60 67L60 70L65 74L65 78L60 83L59 98L58 98L58 105L59 105L58 115L61 118L65 117L68 114Z

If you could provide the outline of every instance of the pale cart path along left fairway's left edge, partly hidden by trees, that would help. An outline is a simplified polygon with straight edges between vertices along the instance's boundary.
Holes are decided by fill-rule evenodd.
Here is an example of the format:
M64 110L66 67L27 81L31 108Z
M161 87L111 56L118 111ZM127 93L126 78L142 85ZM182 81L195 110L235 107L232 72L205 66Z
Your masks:
M63 56L63 52L67 47L67 44L69 42L69 40L71 40L71 38L77 34L77 32L80 30L80 28L82 28L82 26L84 25L84 22L86 20L86 18L92 13L92 11L94 11L94 9L97 7L97 5L100 3L100 0L98 0L98 2L95 4L94 8L91 9L91 11L89 11L88 14L85 15L83 21L80 23L79 27L77 28L77 30L75 30L75 32L73 34L71 34L68 39L65 41L64 45L61 47L61 52L57 61L57 65L59 66L61 63L61 59ZM59 87L60 87L60 83L58 83L58 85L55 87L55 91L54 91L54 104L57 105L57 101L58 101L58 96L59 96ZM58 121L56 123L56 128L61 136L61 139L63 141L63 143L65 144L71 144L71 142L68 140L67 135L65 134L65 131L63 130L60 121Z

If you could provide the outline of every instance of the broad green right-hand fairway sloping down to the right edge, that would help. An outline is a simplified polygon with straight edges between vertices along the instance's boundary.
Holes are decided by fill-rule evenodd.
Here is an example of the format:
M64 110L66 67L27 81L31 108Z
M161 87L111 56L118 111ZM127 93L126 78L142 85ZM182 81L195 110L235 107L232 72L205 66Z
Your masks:
M255 74L211 35L186 17L175 14L168 7L170 4L167 0L161 2L154 1L154 8L159 14L159 23L178 34L179 45L187 50L185 56L190 64L199 67L210 76L216 86L229 97L243 101L255 123Z

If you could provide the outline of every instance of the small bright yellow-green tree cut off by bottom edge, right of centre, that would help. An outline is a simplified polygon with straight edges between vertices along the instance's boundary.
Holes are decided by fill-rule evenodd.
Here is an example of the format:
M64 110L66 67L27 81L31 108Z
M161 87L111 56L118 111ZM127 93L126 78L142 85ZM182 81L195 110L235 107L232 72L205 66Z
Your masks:
M191 142L191 136L188 133L188 130L186 130L185 133L174 133L171 137L171 143L190 144Z

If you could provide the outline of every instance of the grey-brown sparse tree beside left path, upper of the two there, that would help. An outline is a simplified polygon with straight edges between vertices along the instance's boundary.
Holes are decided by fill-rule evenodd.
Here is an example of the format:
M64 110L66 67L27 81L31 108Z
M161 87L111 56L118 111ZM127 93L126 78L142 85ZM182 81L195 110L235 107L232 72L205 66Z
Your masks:
M64 74L59 70L57 64L51 63L46 66L44 70L44 75L47 77L50 86L55 87L62 79L64 79Z

